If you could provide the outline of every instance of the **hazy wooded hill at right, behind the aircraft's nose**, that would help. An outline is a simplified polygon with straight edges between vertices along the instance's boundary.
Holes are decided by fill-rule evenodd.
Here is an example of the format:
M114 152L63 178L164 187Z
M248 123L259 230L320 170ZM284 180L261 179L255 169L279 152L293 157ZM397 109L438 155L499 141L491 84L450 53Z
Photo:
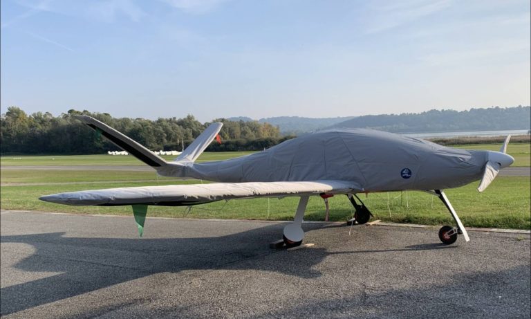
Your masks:
M490 107L469 111L436 110L359 116L327 128L366 127L394 133L425 133L445 131L498 131L530 129L531 107Z

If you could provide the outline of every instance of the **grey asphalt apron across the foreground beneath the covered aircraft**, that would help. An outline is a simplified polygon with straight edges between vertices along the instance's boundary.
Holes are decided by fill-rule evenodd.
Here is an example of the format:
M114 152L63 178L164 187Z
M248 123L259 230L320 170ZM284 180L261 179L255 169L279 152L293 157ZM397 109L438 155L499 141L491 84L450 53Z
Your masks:
M5 318L530 318L530 235L1 213Z

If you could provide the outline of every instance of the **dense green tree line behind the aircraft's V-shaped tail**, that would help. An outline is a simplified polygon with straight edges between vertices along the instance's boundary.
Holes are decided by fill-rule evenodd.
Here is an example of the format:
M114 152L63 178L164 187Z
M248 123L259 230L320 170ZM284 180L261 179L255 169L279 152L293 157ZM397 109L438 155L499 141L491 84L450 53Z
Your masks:
M113 118L109 113L69 110L59 116L49 112L26 114L19 107L8 107L0 117L2 154L102 154L119 147L96 134L75 115L87 115L117 129L151 150L178 150L192 143L210 122L194 116L185 118ZM218 118L223 143L212 143L209 151L259 150L286 140L279 128L269 123L244 122Z

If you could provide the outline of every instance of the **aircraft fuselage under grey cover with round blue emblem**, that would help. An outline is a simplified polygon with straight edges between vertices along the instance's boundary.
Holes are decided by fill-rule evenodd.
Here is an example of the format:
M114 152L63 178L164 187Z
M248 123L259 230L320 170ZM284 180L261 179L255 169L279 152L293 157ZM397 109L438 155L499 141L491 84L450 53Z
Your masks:
M371 129L338 129L226 161L175 165L160 174L217 182L352 181L367 192L438 190L481 179L488 153Z

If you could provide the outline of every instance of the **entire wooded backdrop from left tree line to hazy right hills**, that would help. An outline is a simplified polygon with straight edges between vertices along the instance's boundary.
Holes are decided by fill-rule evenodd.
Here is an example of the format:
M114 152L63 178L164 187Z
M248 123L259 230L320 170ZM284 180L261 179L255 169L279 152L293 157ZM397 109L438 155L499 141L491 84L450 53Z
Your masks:
M101 154L118 147L97 136L73 115L85 114L118 129L152 150L182 150L201 134L209 122L201 123L189 115L186 118L113 118L108 113L91 113L71 109L60 116L46 112L30 115L18 107L9 107L1 115L1 154ZM234 119L234 120L232 120ZM223 122L221 145L212 143L208 151L260 150L277 145L292 136L281 132L302 134L325 129L342 118L268 118L268 122L249 118L218 118ZM360 116L339 122L332 127L369 127L395 133L489 131L530 129L530 107L492 107L469 111L431 110L422 113L402 113ZM278 126L277 126L278 125ZM280 129L279 129L280 126ZM283 127L283 128L282 128Z

